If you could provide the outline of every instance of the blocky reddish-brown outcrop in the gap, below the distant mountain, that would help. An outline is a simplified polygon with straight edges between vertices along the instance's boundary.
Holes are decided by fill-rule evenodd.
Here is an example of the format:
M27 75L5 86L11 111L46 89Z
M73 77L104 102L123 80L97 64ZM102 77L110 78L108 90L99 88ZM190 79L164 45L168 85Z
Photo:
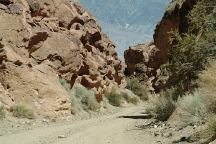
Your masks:
M158 54L159 50L154 44L139 44L130 47L124 53L127 65L125 74L138 78L151 91L155 91L155 82L160 75Z

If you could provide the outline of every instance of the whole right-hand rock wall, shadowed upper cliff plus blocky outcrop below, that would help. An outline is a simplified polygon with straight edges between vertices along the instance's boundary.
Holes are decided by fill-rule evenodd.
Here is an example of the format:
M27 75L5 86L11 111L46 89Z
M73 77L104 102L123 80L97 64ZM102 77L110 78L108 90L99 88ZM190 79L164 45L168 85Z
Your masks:
M136 75L143 75L139 79L146 82L151 90L157 91L162 85L165 85L167 78L160 77L159 68L167 62L167 53L170 47L169 32L172 30L178 30L180 33L187 32L187 14L195 3L196 0L173 0L156 26L154 42L137 45L125 51L126 73L129 76L134 72ZM130 60L132 57L133 62ZM140 66L142 71L139 70Z

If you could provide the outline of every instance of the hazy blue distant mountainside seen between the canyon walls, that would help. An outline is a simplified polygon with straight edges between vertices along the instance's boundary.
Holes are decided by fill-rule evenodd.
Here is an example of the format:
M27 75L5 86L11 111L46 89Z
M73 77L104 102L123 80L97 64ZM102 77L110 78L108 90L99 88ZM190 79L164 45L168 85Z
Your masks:
M80 0L98 18L118 47L120 57L130 45L152 40L170 0Z

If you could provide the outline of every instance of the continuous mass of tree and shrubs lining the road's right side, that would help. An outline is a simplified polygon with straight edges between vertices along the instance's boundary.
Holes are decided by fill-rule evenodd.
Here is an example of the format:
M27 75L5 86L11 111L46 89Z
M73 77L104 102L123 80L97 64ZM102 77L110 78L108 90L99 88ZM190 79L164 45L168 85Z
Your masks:
M175 111L186 125L208 125L216 138L215 5L216 1L199 0L187 16L188 31L170 32L168 63L161 68L172 89L161 92L148 112L166 121Z

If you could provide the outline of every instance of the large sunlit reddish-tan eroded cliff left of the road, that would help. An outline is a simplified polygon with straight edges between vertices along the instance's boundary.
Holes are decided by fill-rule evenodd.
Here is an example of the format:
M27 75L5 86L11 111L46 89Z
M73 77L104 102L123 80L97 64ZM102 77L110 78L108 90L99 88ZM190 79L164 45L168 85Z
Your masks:
M0 1L0 101L38 115L70 115L59 78L103 90L124 87L124 66L95 18L70 0Z

